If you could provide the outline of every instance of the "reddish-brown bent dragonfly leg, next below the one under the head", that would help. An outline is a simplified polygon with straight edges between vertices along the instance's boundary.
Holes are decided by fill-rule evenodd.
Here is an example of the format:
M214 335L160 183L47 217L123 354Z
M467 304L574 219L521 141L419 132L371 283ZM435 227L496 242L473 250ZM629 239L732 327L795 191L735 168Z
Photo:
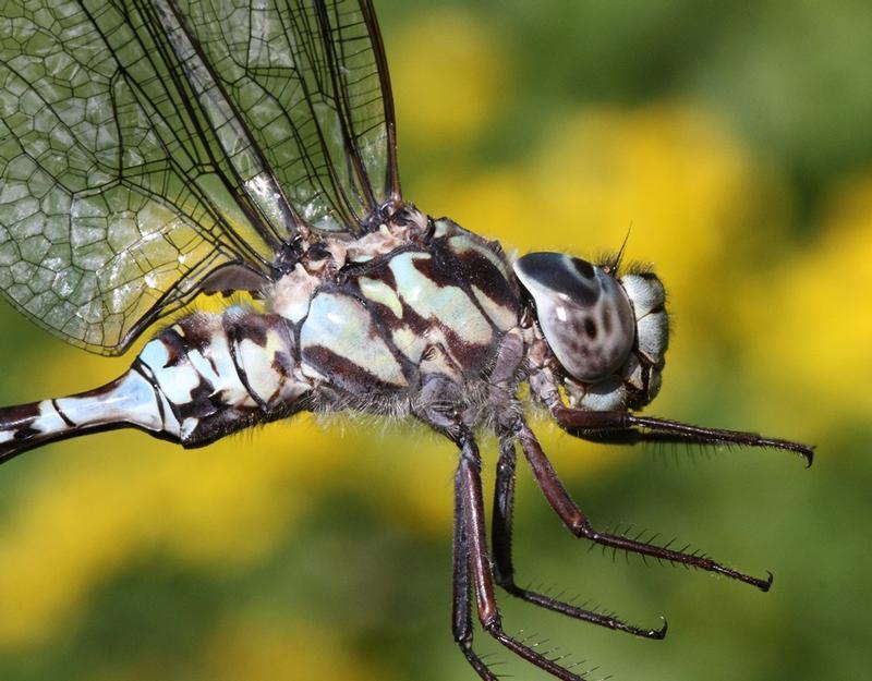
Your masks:
M591 542L615 550L649 556L657 561L673 562L688 568L697 568L699 570L723 574L724 576L738 580L739 582L756 586L764 592L768 591L770 586L772 586L772 573L768 573L766 579L754 577L727 568L714 561L708 556L699 552L687 554L683 549L676 550L669 548L668 545L657 546L654 544L646 544L619 534L610 534L595 530L588 520L588 516L576 504L569 496L569 492L567 492L550 461L548 461L545 452L542 451L542 446L526 424L519 425L518 439L540 489L542 489L548 503L567 528L577 537L584 537L585 539L590 539Z

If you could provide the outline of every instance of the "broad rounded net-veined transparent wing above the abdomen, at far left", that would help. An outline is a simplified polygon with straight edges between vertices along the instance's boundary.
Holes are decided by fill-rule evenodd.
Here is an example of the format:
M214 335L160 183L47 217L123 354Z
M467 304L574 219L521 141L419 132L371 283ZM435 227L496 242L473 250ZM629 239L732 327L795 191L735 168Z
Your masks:
M112 354L216 268L268 271L217 131L142 14L52 0L3 14L0 288L16 307Z

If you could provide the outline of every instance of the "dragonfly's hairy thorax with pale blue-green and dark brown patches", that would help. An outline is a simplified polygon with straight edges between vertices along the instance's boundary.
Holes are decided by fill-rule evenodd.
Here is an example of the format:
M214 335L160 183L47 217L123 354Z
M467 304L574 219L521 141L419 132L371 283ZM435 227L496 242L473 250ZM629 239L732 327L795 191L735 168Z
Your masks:
M360 240L327 239L268 306L292 329L317 408L404 415L451 403L476 422L507 335L518 335L517 285L499 244L412 215ZM514 388L523 354L509 342L518 356L500 367L500 390Z

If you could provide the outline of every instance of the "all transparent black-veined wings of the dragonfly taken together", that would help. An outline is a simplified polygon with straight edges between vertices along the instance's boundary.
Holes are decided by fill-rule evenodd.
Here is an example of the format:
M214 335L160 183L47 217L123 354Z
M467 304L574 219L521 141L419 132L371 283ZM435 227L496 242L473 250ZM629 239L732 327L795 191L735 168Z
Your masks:
M0 288L74 344L120 353L202 290L266 283L298 234L399 200L368 2L2 13Z

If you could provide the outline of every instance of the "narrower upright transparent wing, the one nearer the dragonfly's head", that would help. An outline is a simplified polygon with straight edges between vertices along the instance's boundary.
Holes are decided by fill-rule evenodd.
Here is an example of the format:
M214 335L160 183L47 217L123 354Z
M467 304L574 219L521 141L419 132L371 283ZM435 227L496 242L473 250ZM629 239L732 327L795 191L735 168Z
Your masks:
M359 231L400 200L393 102L366 0L182 2L221 89L302 219Z

